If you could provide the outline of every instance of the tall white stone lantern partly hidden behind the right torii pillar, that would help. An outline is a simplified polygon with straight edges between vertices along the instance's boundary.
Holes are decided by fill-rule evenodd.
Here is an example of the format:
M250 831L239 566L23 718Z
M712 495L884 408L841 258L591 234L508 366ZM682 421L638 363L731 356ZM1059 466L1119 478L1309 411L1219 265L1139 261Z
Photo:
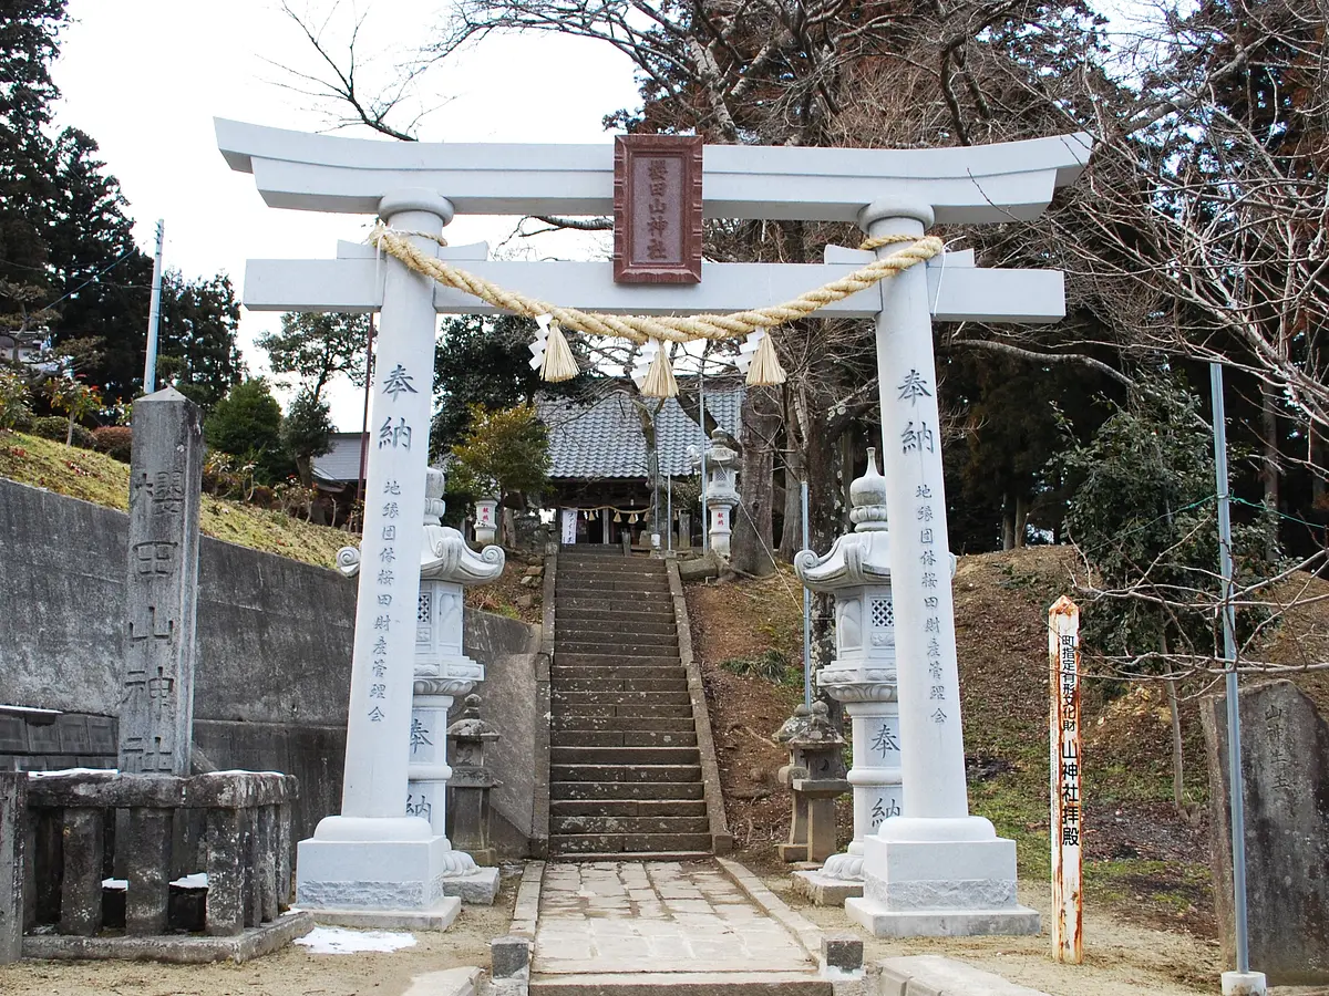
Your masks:
M813 899L831 903L863 895L863 838L900 815L902 802L886 481L874 449L868 450L867 473L849 486L849 499L853 531L825 556L804 550L793 560L808 588L835 595L836 656L817 673L817 685L844 703L853 729L853 843L820 871L795 872Z

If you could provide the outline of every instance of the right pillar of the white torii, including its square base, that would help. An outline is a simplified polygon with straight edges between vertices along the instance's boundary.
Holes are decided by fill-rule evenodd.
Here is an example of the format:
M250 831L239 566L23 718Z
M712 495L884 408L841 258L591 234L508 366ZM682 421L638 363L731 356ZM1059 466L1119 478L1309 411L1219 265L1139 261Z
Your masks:
M869 236L922 238L932 223L932 207L900 201L874 202L859 215ZM847 900L845 911L876 936L1037 934L1038 912L1015 895L1015 842L969 814L924 267L884 280L881 303L877 374L904 806L864 839L864 895Z

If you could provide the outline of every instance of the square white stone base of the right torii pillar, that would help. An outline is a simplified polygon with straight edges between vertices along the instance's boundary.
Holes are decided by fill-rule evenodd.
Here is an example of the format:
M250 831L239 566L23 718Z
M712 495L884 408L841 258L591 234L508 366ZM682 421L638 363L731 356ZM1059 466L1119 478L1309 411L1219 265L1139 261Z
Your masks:
M844 908L874 936L1039 931L1038 911L1015 898L1015 842L986 819L894 817L864 839L863 869L863 898Z

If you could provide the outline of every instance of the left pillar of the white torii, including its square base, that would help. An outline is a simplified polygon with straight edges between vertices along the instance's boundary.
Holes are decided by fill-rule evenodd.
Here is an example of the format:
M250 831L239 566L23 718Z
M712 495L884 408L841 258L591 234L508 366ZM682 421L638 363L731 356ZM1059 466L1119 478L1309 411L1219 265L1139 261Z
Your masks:
M439 235L452 215L432 190L379 202L379 216L409 232ZM320 920L445 930L461 903L443 891L448 839L404 815L437 316L432 280L392 258L385 267L342 813L300 841L295 888Z

